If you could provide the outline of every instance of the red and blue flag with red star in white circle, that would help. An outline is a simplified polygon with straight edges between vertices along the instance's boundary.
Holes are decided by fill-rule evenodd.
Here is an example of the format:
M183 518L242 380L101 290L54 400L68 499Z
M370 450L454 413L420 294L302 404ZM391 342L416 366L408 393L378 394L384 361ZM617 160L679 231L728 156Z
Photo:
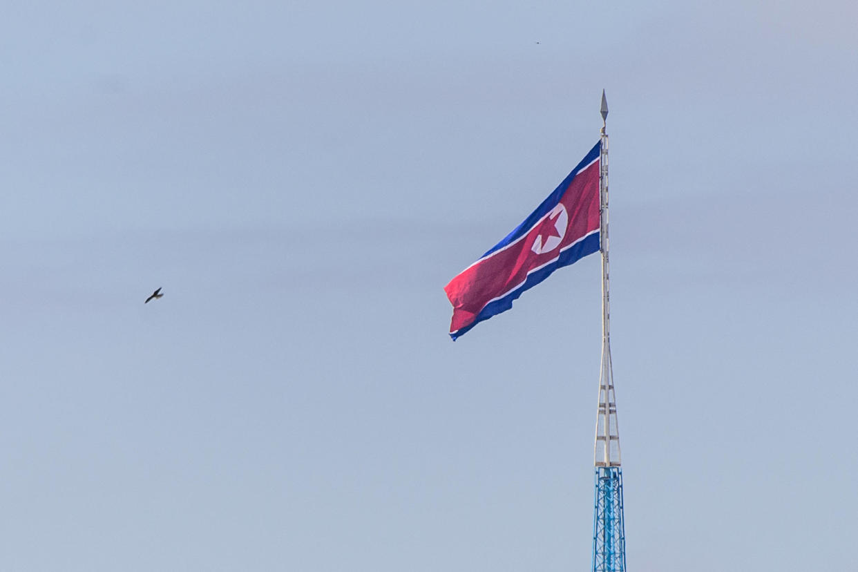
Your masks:
M599 250L600 154L596 143L522 224L444 286L453 304L453 340L511 309L557 268Z

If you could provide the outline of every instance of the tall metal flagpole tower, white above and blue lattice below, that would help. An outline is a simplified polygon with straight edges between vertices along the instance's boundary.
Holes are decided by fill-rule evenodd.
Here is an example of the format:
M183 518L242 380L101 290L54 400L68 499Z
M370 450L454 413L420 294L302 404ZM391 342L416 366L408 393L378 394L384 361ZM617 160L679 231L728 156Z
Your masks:
M607 100L601 93L601 373L595 421L595 507L593 517L593 572L625 572L623 470L620 467L617 404L611 367L610 297L607 256Z

